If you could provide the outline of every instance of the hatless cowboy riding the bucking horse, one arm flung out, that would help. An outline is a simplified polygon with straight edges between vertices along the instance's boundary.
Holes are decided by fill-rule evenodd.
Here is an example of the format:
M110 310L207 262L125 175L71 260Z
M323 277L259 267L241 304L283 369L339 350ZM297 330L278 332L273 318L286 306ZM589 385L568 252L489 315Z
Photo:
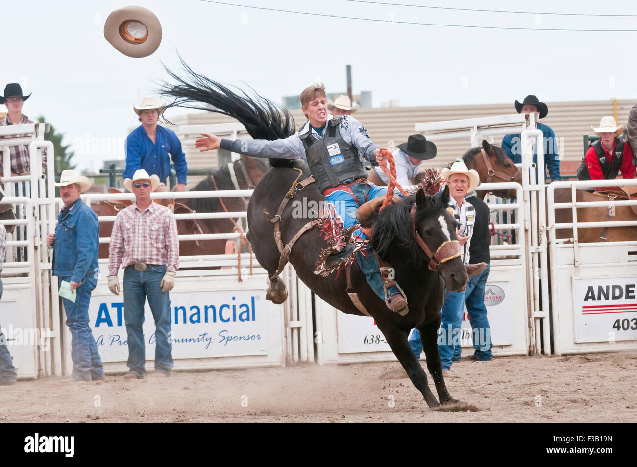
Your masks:
M288 138L233 141L202 133L203 138L195 141L195 147L201 148L202 152L223 148L252 157L304 159L327 201L336 207L344 226L347 228L358 224L355 219L357 208L370 199L385 196L387 192L387 187L376 187L368 181L362 158L373 166L385 164L386 158L378 145L369 139L367 130L358 120L351 115L331 118L323 85L315 84L301 92L301 109L308 122L301 131ZM371 245L368 248L371 249ZM337 264L352 254L353 250L354 245L348 244L341 252L330 255L326 266ZM368 284L384 301L385 289L376 256L365 256L359 252L356 261ZM391 310L402 315L407 312L407 301L397 287L390 287L387 296Z

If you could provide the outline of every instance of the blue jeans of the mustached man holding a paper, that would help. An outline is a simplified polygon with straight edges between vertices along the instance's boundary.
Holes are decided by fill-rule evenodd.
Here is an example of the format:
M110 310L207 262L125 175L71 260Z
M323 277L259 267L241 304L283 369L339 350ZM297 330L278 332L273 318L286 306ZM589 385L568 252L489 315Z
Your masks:
M60 277L69 282L70 277ZM89 326L90 292L95 289L96 279L91 275L84 277L82 285L75 289L75 303L62 298L66 312L66 326L71 331L71 360L76 380L91 381L104 378L102 359L97 352L95 338Z

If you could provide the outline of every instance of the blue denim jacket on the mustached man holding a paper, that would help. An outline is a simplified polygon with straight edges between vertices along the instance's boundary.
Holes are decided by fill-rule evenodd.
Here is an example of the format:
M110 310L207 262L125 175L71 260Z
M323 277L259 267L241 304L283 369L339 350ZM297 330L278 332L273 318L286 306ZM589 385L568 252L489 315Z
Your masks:
M99 222L94 210L82 199L62 217L57 217L55 227L53 273L57 277L70 277L73 282L82 282L85 276L99 271L97 250L99 249Z

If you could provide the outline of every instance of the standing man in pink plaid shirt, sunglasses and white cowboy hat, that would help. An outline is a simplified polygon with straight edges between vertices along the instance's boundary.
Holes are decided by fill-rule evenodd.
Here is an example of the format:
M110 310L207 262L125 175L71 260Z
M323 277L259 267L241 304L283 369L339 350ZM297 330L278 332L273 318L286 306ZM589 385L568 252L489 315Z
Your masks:
M124 268L124 321L128 334L128 366L125 378L144 377L145 345L141 329L144 305L155 319L155 374L169 377L173 368L168 291L175 287L179 268L179 240L175 216L153 203L150 193L159 185L157 175L139 169L124 186L135 194L135 203L117 213L108 255L108 288L119 295L117 269Z

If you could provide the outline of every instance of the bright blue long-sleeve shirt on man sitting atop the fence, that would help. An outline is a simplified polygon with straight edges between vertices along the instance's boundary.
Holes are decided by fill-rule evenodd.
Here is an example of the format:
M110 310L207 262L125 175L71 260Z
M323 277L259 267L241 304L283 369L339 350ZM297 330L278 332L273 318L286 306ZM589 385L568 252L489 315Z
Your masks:
M166 182L170 175L170 159L173 158L177 183L186 183L188 164L183 154L182 142L174 131L157 125L155 143L153 143L143 126L139 126L129 134L124 143L126 152L126 169L124 178L132 178L137 169L144 169L148 175L157 175L161 182Z

